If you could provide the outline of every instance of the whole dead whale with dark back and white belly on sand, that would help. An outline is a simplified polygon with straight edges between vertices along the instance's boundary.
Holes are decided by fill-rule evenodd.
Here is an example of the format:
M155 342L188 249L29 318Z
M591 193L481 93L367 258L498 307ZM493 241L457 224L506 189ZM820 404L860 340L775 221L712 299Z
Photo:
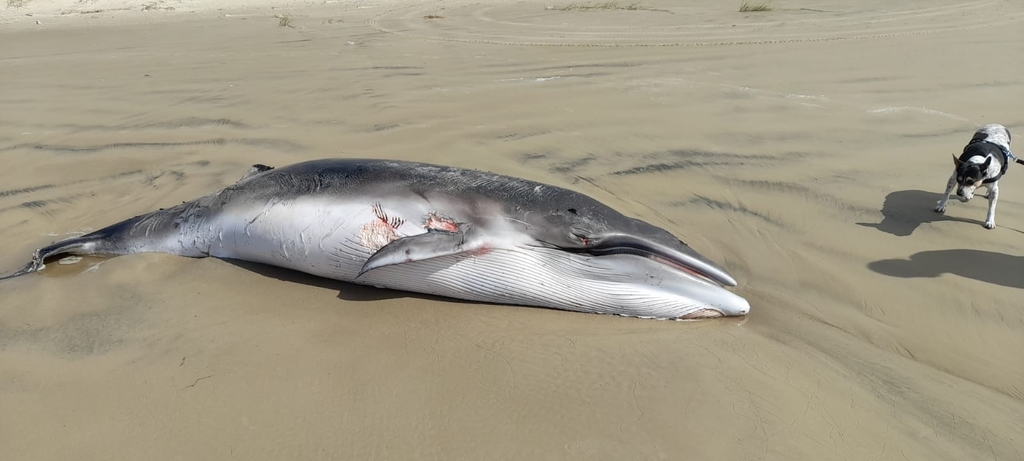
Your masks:
M668 230L586 195L479 170L324 159L56 242L61 255L237 258L453 298L628 317L743 316L736 281ZM3 280L0 279L0 280Z

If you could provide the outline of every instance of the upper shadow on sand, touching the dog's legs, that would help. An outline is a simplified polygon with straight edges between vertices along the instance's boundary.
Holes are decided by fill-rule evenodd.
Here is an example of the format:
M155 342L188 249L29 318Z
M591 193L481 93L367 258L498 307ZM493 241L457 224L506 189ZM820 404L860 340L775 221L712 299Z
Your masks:
M981 198L981 196L978 197ZM941 198L942 193L897 191L886 196L886 201L882 204L882 222L858 222L857 225L874 227L897 237L906 237L913 234L921 224L929 222L959 221L977 225L983 224L979 220L946 216L944 213L936 212L935 206ZM949 206L961 204L955 199L949 200Z

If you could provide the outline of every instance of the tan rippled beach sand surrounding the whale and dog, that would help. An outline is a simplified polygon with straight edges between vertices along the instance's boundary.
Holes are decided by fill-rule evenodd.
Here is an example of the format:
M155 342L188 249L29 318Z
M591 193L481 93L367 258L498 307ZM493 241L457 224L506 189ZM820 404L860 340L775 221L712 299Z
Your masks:
M590 194L753 311L51 265L0 283L5 460L1024 457L1024 169L994 230L932 211L978 125L1024 138L1020 2L7 4L0 270L253 163L396 158Z

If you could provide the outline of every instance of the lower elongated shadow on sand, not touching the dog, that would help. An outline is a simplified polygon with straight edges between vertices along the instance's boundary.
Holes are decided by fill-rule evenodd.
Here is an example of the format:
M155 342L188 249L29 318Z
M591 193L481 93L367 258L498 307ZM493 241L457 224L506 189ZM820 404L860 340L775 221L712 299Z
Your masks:
M867 264L876 273L905 279L953 274L968 279L1024 288L1024 256L982 250L922 251L908 259L882 259Z

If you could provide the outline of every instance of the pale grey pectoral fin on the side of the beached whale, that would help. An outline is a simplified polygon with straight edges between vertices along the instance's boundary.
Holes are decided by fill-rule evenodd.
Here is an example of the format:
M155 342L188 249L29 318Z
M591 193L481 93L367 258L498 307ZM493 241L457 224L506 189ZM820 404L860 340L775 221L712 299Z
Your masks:
M355 277L359 278L370 270L388 265L474 252L482 249L482 242L476 237L477 233L473 227L454 233L428 232L403 237L377 250Z

